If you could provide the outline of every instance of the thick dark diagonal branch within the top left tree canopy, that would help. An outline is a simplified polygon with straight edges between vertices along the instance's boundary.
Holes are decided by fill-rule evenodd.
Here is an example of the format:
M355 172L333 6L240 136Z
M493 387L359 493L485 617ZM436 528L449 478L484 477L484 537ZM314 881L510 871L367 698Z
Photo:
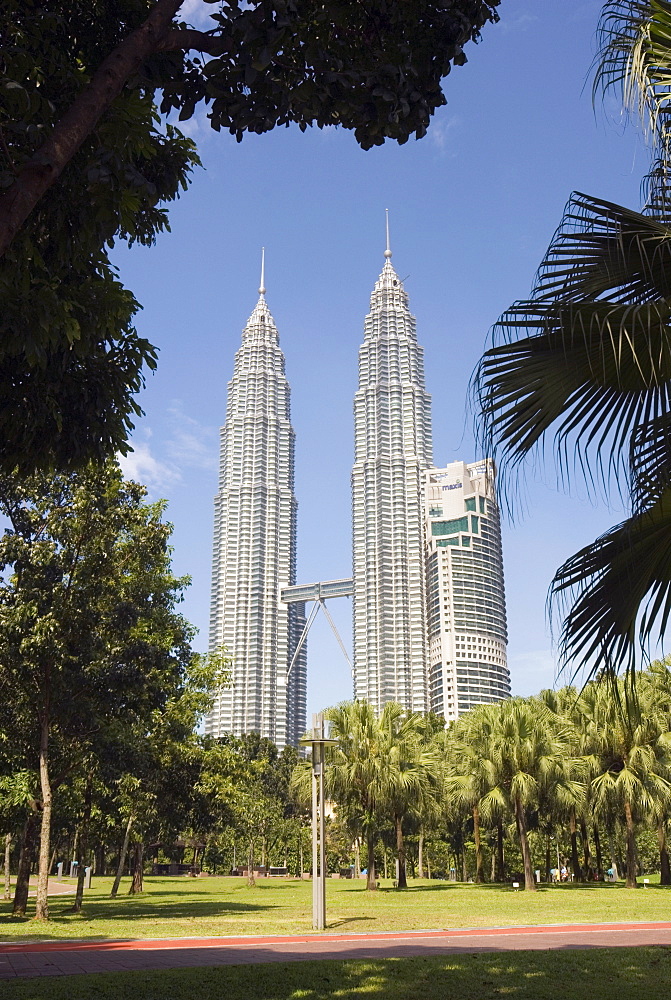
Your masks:
M0 196L0 257L43 195L58 180L128 78L158 51L184 0L157 0L147 20L100 64L91 82L77 95L49 138Z

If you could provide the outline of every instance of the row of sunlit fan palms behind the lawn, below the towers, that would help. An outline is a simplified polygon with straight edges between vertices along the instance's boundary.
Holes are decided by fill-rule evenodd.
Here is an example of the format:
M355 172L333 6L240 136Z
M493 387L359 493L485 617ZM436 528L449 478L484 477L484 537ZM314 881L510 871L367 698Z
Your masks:
M369 889L389 854L407 884L409 848L420 877L517 876L533 891L537 872L593 881L610 871L635 887L643 869L671 884L667 663L639 672L635 692L592 681L482 705L447 728L396 704L380 718L366 702L331 709L333 850L349 844L358 867L362 849ZM292 787L303 801L308 780L302 762Z

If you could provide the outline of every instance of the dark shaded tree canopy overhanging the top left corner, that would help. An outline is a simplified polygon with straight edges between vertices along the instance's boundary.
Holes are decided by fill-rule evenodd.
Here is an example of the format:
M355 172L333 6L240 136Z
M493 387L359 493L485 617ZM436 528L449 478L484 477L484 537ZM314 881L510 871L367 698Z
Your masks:
M209 0L208 0L209 2ZM425 134L499 0L4 0L0 11L0 467L124 451L156 351L108 258L151 244L188 183L181 120L238 139L340 125L367 149Z

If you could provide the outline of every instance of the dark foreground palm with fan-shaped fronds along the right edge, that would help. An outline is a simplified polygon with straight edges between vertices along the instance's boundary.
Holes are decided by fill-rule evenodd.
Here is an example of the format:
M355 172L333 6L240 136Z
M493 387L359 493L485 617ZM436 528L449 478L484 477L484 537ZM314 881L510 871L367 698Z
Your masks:
M510 497L548 434L562 480L616 479L628 497L629 516L569 558L552 592L564 661L631 679L638 642L671 614L671 2L611 0L599 39L595 91L621 88L653 140L645 205L572 195L474 388Z

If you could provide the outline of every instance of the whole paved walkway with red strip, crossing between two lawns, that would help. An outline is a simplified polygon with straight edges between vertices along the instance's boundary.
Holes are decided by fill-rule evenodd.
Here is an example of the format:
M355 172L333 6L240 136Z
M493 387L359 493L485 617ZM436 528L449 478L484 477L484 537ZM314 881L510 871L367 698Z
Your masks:
M671 946L671 923L565 924L293 937L4 942L0 943L0 979L319 958L405 958L636 945Z

